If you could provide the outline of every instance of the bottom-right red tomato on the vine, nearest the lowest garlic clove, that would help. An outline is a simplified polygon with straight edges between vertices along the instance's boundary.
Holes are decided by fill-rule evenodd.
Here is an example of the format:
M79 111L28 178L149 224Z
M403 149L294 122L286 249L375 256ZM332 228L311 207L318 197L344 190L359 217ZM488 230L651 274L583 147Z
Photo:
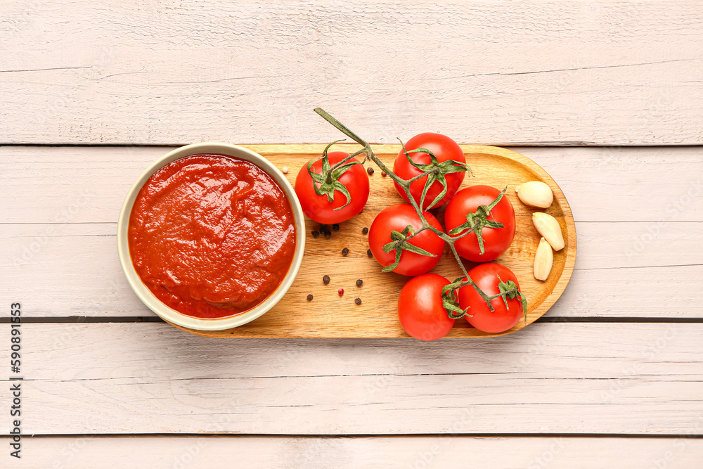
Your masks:
M498 283L501 281L507 283L513 281L520 288L520 283L517 283L515 274L508 267L489 262L488 264L479 264L469 271L469 276L476 283L483 293L489 296L498 295L501 291L498 289ZM498 280L500 276L500 280ZM491 311L479 295L475 288L467 285L459 289L459 307L461 309L469 308L467 311L466 320L479 330L489 333L504 332L512 328L523 317L522 301L520 297L508 298L508 307L505 307L503 298L496 297L491 300ZM472 316L468 316L468 315Z

